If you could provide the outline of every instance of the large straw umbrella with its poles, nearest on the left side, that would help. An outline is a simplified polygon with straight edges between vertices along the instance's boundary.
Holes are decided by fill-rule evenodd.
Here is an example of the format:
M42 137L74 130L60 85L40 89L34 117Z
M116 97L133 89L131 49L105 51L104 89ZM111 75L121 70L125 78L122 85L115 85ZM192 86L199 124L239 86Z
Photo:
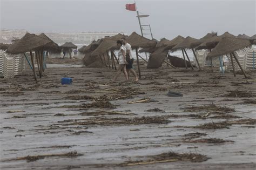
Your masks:
M36 55L38 55L38 57L41 60L43 60L43 47L50 43L51 41L49 39L39 37L35 34L26 33L25 36L23 36L21 39L10 44L7 51L8 53L12 53L12 54L24 53L24 55L25 55L25 52L30 51L32 70L33 70L35 80L37 81L32 51L35 51ZM39 76L41 77L42 74L39 74Z

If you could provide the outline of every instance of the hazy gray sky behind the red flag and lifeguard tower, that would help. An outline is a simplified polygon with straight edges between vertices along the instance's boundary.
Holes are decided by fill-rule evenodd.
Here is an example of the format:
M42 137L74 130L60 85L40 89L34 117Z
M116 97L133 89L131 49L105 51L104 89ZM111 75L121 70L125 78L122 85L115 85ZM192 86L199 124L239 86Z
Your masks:
M125 10L130 0L0 0L5 29L30 32L118 31L140 33L136 12ZM137 8L150 17L154 38L177 35L201 38L207 32L234 35L256 33L256 0L137 0Z

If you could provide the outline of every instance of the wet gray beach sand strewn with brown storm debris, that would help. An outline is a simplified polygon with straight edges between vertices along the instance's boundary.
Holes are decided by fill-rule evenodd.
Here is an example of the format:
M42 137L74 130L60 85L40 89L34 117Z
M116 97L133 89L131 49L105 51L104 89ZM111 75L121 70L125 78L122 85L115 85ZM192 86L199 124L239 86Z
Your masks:
M139 83L113 83L106 67L48 63L37 84L30 70L0 79L1 169L255 169L255 71L142 62Z

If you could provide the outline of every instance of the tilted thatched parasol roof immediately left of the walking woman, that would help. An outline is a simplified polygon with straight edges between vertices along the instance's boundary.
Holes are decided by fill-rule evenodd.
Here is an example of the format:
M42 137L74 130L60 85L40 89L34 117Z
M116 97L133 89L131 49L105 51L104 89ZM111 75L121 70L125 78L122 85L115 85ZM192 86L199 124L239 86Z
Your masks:
M99 44L97 49L95 49L91 53L91 55L92 56L102 55L102 54L106 53L108 50L110 50L113 45L116 45L116 40L104 38L102 43Z

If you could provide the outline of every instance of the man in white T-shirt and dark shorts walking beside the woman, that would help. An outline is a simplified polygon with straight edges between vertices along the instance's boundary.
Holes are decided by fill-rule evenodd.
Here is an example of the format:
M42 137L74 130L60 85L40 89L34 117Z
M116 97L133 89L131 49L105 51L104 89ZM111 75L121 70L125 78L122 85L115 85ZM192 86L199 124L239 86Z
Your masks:
M133 66L132 66L132 64L133 64L132 47L129 43L126 42L126 39L124 37L122 38L122 43L126 49L126 61L128 63L128 64L126 64L126 71L128 74L128 79L130 77L130 72L131 72L134 76L134 80L138 81L139 79L137 77L136 72L133 70Z

